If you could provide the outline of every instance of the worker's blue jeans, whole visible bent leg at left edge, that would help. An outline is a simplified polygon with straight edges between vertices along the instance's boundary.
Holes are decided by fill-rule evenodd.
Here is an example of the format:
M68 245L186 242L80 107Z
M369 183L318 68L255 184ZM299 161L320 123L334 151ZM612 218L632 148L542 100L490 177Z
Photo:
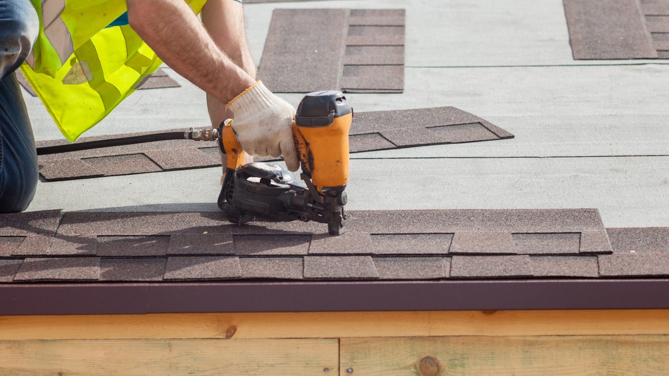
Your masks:
M15 70L38 31L29 0L0 1L0 213L25 210L37 188L35 138Z

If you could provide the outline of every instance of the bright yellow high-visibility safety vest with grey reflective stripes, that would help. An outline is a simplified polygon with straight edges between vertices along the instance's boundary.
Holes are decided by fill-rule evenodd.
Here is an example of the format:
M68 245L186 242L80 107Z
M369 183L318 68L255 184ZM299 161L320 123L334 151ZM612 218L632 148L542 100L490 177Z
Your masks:
M207 0L185 0L199 13ZM125 0L32 0L39 36L21 71L65 138L104 119L162 64L129 25Z

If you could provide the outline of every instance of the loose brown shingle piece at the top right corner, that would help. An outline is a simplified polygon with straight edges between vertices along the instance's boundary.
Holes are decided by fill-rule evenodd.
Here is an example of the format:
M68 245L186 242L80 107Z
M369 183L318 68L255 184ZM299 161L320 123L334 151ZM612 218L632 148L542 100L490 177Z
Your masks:
M668 59L668 0L563 0L574 59Z

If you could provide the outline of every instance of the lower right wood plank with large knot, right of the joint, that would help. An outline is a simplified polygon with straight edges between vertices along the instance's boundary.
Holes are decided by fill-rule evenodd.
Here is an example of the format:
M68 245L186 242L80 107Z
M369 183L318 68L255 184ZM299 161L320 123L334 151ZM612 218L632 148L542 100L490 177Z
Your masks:
M341 375L666 375L669 337L341 340Z

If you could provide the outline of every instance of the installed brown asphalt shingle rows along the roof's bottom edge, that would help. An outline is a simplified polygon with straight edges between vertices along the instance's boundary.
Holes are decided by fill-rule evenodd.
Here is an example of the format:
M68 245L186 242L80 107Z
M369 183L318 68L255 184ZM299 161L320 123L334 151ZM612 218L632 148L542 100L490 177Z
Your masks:
M221 212L2 218L3 283L669 275L668 228L607 230L593 209L351 211L341 236L317 222L235 226Z

